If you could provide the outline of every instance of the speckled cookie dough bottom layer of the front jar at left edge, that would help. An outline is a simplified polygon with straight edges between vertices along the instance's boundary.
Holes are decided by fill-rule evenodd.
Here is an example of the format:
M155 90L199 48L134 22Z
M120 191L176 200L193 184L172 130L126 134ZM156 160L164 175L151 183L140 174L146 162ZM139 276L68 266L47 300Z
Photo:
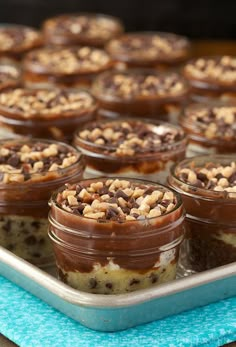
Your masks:
M53 262L47 218L0 216L0 245L37 266Z

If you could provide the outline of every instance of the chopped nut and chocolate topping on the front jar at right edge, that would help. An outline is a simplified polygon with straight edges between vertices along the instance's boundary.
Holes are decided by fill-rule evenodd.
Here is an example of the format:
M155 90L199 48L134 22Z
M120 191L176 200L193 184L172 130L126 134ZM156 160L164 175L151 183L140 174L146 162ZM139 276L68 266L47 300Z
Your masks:
M203 167L195 167L193 160L189 167L179 169L177 176L195 187L225 191L230 197L236 198L236 162L229 165L207 162Z

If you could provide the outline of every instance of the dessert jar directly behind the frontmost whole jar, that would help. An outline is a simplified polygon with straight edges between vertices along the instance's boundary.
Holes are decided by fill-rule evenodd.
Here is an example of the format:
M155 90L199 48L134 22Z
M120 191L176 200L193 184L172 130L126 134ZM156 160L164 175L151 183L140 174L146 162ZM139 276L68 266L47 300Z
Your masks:
M85 177L123 176L165 183L170 167L185 158L180 127L140 119L87 123L75 133L84 154Z

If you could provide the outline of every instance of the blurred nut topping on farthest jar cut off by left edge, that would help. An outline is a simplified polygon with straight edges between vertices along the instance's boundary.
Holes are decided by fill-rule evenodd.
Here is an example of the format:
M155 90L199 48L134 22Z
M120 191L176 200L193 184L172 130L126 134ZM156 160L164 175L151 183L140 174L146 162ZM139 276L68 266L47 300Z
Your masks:
M38 31L21 25L7 25L0 28L0 52L21 52L39 46Z

